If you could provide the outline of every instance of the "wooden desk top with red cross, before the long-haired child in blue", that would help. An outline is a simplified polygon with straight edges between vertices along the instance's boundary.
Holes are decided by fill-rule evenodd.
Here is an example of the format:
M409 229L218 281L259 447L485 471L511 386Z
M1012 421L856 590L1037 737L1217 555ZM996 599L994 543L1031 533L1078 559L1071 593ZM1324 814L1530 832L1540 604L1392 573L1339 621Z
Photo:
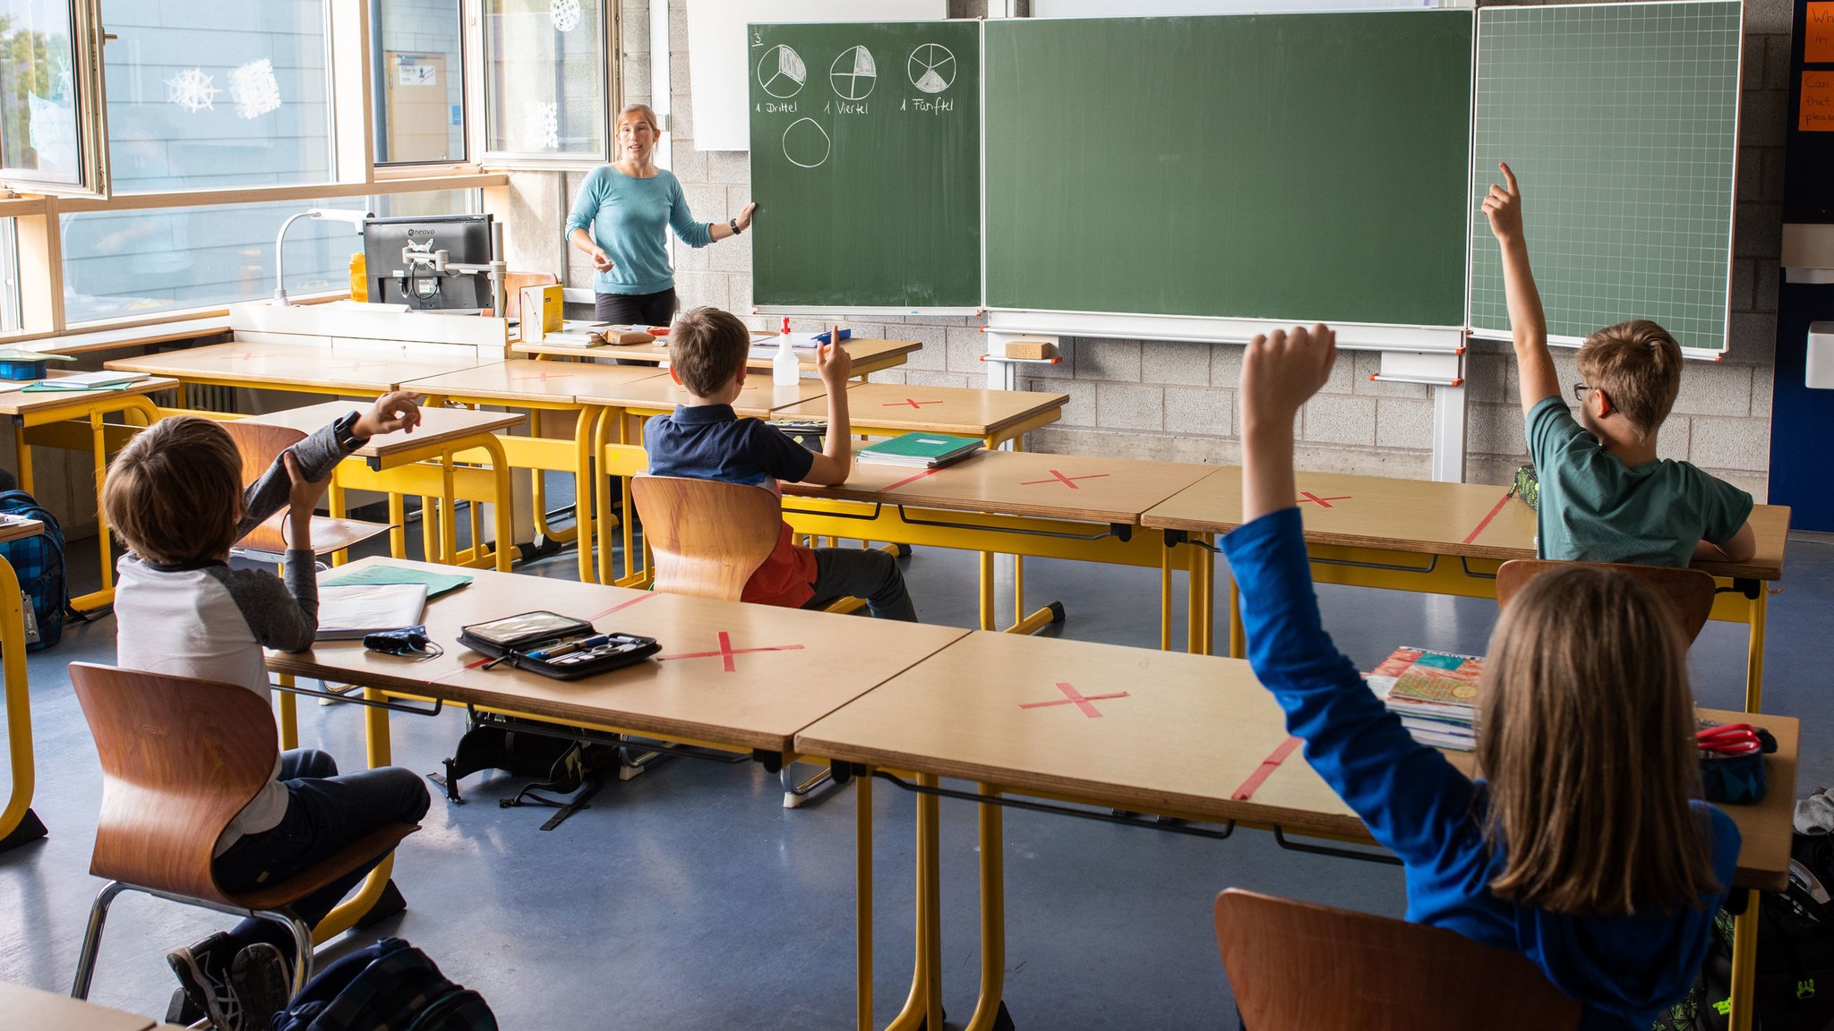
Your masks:
M1060 684L1088 701L1075 703ZM1799 726L1759 719L1777 737L1770 794L1724 809L1744 833L1739 882L1777 890L1790 857ZM1366 838L1302 750L1253 798L1232 798L1282 741L1280 706L1240 659L974 631L822 717L796 736L796 748L1117 809ZM1469 752L1449 758L1469 772Z

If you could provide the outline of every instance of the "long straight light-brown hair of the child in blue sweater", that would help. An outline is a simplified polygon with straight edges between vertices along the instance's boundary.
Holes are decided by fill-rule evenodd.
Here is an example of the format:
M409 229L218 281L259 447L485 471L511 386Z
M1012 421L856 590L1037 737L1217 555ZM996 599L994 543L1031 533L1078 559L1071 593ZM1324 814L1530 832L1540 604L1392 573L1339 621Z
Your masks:
M1561 914L1674 910L1717 892L1687 642L1665 598L1572 565L1509 602L1478 688L1493 893Z

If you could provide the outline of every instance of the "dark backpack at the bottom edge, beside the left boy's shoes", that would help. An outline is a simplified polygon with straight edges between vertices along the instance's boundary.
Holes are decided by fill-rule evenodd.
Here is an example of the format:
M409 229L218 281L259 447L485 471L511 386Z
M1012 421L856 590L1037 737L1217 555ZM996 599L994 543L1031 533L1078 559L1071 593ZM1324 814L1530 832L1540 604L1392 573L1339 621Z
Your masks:
M385 937L319 970L273 1031L497 1031L484 996L455 985L427 954Z

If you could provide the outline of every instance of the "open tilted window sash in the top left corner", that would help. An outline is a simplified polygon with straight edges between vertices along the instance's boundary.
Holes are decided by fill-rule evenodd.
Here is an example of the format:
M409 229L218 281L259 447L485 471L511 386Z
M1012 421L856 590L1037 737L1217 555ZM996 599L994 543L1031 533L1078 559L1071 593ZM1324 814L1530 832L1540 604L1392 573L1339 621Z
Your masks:
M94 0L0 0L0 178L13 187L105 193L94 18Z

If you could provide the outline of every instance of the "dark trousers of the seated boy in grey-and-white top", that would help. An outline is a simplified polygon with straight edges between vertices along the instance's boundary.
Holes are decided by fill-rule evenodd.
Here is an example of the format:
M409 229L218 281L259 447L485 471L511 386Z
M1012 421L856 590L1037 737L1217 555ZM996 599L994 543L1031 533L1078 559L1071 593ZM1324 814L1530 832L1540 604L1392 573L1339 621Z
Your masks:
M242 835L213 864L216 882L229 892L284 881L383 824L418 824L427 815L429 794L420 774L402 767L339 774L337 761L317 748L282 752L281 783L286 785L286 816L266 831ZM381 859L299 899L292 904L293 914L317 925ZM266 941L282 956L293 956L293 936L273 921L246 919L229 937L237 948Z

